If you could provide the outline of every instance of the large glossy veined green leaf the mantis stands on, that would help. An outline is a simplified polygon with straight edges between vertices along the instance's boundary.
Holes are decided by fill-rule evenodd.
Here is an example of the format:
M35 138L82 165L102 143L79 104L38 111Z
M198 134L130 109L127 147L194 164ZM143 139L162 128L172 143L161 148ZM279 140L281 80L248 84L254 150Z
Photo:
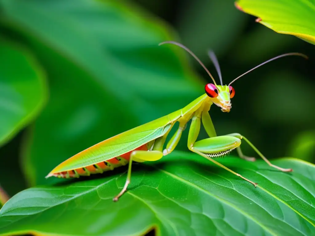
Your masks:
M0 233L57 235L315 235L315 166L293 158L220 162L259 183L257 188L199 155L173 152L157 162L103 178L26 189L0 211ZM101 176L101 175L100 175ZM84 178L83 178L84 179ZM58 227L56 227L58 226Z

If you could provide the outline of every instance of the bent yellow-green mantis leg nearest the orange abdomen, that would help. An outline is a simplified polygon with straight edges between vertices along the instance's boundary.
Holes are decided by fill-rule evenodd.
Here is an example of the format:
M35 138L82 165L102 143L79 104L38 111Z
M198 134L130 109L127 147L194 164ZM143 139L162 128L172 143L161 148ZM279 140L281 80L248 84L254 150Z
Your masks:
M126 182L123 186L123 189L120 191L120 193L113 198L114 202L117 202L119 197L121 197L124 192L126 192L127 187L130 183L130 179L131 179L131 165L132 165L132 160L136 160L136 161L154 161L154 160L159 160L161 159L163 156L163 153L161 151L143 151L143 150L136 150L133 151L130 155L130 159L129 159L129 165L128 165L128 172L127 172L127 179Z

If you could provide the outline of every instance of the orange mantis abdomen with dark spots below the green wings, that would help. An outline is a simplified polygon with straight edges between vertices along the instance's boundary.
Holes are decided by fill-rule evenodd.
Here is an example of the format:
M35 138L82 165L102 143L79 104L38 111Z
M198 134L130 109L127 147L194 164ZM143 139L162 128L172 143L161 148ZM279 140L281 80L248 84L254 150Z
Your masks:
M103 173L105 171L111 171L119 166L125 166L126 164L128 164L130 155L135 150L147 151L148 150L147 143L120 156L113 157L112 159L101 161L90 166L84 166L69 171L54 173L52 174L52 176L59 178L78 178L80 176L89 176L90 174L98 174Z

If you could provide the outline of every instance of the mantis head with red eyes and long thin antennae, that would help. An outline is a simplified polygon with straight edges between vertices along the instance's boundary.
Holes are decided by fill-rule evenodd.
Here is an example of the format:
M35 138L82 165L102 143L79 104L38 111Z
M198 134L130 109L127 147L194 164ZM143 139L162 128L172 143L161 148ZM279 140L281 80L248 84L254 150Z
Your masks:
M238 76L236 79L232 80L228 85L223 85L222 82L222 76L221 76L221 70L220 70L220 66L219 66L219 62L218 59L215 56L215 53L212 51L208 51L208 55L211 59L211 61L213 62L213 64L215 65L215 69L219 75L220 78L220 82L221 85L217 85L215 82L215 79L213 78L213 76L210 74L209 70L203 65L203 63L199 60L199 58L191 51L189 50L186 46L182 45L181 43L178 42L174 42L174 41L166 41L166 42L161 42L159 45L165 44L165 43L171 43L171 44L175 44L181 48L184 48L188 53L190 53L198 62L199 64L203 67L204 70L207 71L208 75L211 77L212 81L214 82L214 84L209 83L206 84L205 86L205 91L206 94L209 96L210 100L216 104L218 107L221 107L221 111L223 112L229 112L231 110L232 104L231 104L231 98L234 97L235 94L235 90L234 88L231 86L231 84L238 80L238 78L242 77L243 75L249 73L252 70L255 70L257 67L264 65L270 61L273 61L275 59L278 59L280 57L285 57L285 56L302 56L305 59L308 59L308 57L302 53L285 53L285 54L281 54L277 57L274 57L272 59L269 59L257 66L255 66L254 68L250 69L249 71L246 71L244 74Z

